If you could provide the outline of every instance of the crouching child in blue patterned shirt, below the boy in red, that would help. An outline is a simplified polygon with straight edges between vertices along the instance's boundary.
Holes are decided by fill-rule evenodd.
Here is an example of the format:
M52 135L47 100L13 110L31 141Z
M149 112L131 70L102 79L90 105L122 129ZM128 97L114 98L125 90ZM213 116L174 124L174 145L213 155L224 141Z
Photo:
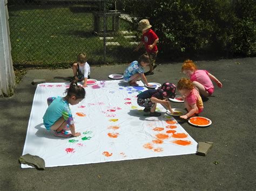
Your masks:
M129 81L130 86L139 86L138 83L136 83L136 80L139 79L139 77L141 77L142 80L145 82L146 86L152 86L151 84L147 83L147 79L144 75L143 69L149 64L149 56L146 53L141 55L138 61L131 62L130 65L125 69L124 79L126 81Z

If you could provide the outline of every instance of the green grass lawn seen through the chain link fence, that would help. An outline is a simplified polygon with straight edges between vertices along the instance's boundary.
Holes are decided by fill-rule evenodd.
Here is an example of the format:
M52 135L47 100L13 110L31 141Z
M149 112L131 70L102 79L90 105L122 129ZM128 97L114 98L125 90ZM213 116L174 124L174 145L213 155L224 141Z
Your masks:
M103 40L93 34L94 19L87 5L10 5L9 26L11 53L15 65L44 68L66 68L86 52L90 64L103 63ZM107 27L111 29L111 18ZM120 19L120 31L130 23ZM136 31L133 32L136 34ZM106 62L129 62L135 55L132 39L116 34L121 46L106 47ZM111 40L113 41L113 40Z

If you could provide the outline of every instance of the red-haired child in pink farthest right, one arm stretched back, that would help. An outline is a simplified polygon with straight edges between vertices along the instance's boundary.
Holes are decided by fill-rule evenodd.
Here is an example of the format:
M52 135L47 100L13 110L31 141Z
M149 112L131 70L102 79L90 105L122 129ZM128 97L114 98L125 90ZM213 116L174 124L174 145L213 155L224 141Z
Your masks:
M219 88L222 88L222 83L215 76L208 73L206 70L198 70L192 60L186 60L181 71L190 77L193 85L197 87L199 93L205 97L213 94L214 86L211 80L217 83Z

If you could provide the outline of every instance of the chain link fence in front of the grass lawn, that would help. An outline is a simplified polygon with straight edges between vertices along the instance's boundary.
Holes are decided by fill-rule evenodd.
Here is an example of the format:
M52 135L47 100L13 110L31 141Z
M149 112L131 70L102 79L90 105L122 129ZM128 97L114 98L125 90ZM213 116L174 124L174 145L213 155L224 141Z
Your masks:
M92 65L136 60L141 33L121 9L115 1L9 0L14 65L70 67L82 52Z

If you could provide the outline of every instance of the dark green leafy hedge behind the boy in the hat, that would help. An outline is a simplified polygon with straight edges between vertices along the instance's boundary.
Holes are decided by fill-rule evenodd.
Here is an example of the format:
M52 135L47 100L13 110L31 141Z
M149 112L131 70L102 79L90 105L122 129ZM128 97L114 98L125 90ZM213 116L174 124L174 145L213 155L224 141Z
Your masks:
M253 0L120 1L133 15L134 29L150 20L159 37L160 52L255 56L255 2ZM166 55L165 54L165 55Z

